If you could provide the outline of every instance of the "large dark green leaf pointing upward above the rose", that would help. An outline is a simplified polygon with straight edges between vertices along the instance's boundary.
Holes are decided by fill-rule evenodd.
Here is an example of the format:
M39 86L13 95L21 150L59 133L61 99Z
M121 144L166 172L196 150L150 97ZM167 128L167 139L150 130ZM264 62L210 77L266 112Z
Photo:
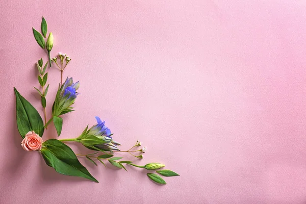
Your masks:
M43 135L43 121L37 110L20 95L14 87L16 95L16 119L18 131L22 138L29 131L34 131L40 137Z

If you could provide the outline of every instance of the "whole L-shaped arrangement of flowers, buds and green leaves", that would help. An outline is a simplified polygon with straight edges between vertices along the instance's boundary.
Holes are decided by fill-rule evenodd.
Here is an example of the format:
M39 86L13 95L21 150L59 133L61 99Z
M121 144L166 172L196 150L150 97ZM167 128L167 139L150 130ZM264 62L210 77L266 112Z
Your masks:
M96 124L90 128L87 125L84 131L76 138L49 139L43 141L42 136L44 130L47 129L50 123L54 123L57 135L61 135L63 127L63 118L61 116L74 111L72 105L75 103L77 96L79 95L77 91L80 88L80 82L73 82L73 79L68 77L63 82L63 72L71 59L66 54L62 53L59 53L57 57L52 59L50 58L54 37L52 33L49 33L47 41L45 42L47 35L47 22L44 17L41 21L41 33L33 28L33 34L37 43L41 48L46 49L48 54L48 61L45 64L43 64L42 58L36 63L38 69L38 82L41 87L34 87L41 96L44 121L38 111L14 87L16 95L17 127L21 137L23 138L21 146L25 151L40 152L45 163L61 174L84 177L85 179L97 183L98 181L89 173L86 167L80 163L78 157L84 157L96 166L96 162L99 162L104 166L106 166L105 162L108 162L111 165L126 171L127 169L125 168L125 165L144 168L148 171L155 171L148 172L147 176L150 180L158 184L166 184L161 175L179 175L174 171L162 169L165 165L161 163L148 163L139 166L134 164L133 161L122 161L122 157L115 157L116 152L127 152L137 159L142 159L142 153L146 151L146 148L141 148L141 142L137 141L129 150L120 150L120 143L113 139L111 130L105 125L105 121L102 121L99 117L95 117L97 122ZM52 106L52 117L47 120L46 95L49 89L49 84L46 86L48 79L47 67L48 65L49 67L52 67L52 64L61 71L61 82L59 83L57 94ZM73 150L65 144L66 142L81 143L84 147L93 152L87 155L74 154Z

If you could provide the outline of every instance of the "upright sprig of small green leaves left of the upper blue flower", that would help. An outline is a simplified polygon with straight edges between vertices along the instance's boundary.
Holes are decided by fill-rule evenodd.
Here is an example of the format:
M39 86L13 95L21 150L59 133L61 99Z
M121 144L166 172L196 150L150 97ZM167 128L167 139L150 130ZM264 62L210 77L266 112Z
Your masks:
M38 88L34 87L38 93L40 94L41 96L41 105L43 108L46 108L46 95L48 93L48 89L49 89L49 84L47 85L46 89L44 90L44 86L46 85L47 83L47 79L48 79L48 72L45 73L46 71L46 68L48 66L48 62L42 67L43 65L43 61L42 61L42 58L40 60L38 60L38 63L36 63L37 65L37 69L38 69L38 82L40 84L40 86L42 87L42 92L39 91Z

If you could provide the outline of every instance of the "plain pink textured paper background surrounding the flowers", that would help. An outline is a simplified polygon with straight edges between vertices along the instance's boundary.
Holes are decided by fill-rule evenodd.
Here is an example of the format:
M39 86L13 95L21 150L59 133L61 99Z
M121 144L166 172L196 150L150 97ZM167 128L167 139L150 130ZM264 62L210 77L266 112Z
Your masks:
M0 203L306 202L305 1L2 0L0 9ZM81 81L61 138L97 115L121 149L137 139L148 148L137 163L181 176L158 186L143 170L81 158L96 184L21 148L13 86L42 113L32 88L35 62L46 60L32 34L42 15L52 56L67 53L65 77ZM48 71L50 115L60 72ZM43 139L55 137L52 125Z

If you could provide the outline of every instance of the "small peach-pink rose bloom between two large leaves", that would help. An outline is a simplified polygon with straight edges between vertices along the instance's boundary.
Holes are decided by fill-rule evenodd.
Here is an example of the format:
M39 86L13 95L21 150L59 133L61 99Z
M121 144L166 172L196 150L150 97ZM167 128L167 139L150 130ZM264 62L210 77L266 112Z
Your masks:
M30 131L25 134L21 146L25 151L39 151L42 146L42 139L34 131Z

